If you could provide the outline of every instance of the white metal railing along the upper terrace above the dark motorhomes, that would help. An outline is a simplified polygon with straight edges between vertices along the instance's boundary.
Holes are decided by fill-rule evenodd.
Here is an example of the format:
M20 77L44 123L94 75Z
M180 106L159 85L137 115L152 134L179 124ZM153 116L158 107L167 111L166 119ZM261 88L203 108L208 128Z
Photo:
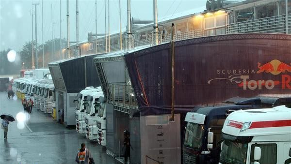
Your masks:
M288 15L288 31L291 33L291 14ZM266 18L260 18L255 20L249 20L238 23L231 23L226 25L226 34L232 33L286 33L286 15L278 15ZM198 37L206 36L206 33L203 29L185 31L174 34L174 41L181 41L186 39L193 39ZM171 41L171 34L164 35L162 37L161 32L158 33L158 44L169 43ZM154 46L155 44L155 35L152 33L146 39L134 40L133 46ZM126 47L126 44L122 44L122 49ZM115 44L110 46L110 52L120 50L120 45ZM105 53L105 46L98 47L97 53ZM107 52L109 52L107 50ZM96 49L92 49L87 52L87 54L96 54Z

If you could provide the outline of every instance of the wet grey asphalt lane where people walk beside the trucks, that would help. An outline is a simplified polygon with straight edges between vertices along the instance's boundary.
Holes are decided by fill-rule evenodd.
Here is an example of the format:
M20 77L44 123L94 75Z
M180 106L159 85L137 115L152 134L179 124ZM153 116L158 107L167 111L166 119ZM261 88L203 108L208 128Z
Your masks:
M16 118L18 112L23 112L21 101L8 100L6 92L0 92L0 115L9 113ZM96 142L33 108L24 127L10 122L7 139L0 129L0 164L76 164L81 143L91 151L95 164L121 164Z

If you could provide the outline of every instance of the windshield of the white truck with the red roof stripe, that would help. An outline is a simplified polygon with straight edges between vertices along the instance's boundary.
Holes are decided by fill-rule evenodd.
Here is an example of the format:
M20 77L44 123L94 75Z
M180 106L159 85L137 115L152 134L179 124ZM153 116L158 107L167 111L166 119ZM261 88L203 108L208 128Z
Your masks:
M230 140L224 140L220 163L221 164L245 164L247 143L241 144Z

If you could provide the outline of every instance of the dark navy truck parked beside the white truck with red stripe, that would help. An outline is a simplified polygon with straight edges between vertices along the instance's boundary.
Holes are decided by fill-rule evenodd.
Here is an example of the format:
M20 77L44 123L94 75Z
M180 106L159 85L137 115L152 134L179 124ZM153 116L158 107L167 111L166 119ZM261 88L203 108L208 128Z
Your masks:
M285 95L290 96L290 95ZM280 95L256 96L256 98L234 98L243 100L232 105L205 106L194 108L186 115L185 139L183 143L184 164L218 164L220 157L221 130L226 117L233 111L271 108L282 104L291 104L291 97ZM229 99L226 103L233 103ZM211 134L212 133L212 134ZM209 143L208 135L213 135Z

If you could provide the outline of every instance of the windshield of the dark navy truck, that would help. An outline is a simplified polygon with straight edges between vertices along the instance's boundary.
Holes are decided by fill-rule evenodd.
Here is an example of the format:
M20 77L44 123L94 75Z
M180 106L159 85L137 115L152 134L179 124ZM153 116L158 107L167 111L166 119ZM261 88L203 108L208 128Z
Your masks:
M203 134L204 125L188 122L185 130L184 145L192 149L200 149Z

